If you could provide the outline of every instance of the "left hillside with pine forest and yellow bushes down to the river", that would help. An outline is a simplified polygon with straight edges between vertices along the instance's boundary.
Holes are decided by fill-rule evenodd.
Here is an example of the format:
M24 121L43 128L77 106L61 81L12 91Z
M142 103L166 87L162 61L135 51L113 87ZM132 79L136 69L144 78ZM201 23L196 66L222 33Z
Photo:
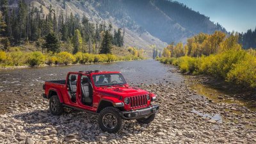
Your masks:
M124 30L113 28L111 22L93 23L84 14L64 13L51 4L47 9L28 1L8 4L7 0L1 1L1 66L35 67L143 58L142 49L128 51L123 47Z

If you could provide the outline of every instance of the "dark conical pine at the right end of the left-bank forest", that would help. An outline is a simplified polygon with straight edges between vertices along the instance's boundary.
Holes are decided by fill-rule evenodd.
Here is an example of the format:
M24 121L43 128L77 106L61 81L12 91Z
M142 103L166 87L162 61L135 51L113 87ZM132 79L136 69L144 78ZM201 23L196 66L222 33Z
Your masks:
M108 30L104 31L103 41L100 47L100 54L109 54L112 49L111 35Z

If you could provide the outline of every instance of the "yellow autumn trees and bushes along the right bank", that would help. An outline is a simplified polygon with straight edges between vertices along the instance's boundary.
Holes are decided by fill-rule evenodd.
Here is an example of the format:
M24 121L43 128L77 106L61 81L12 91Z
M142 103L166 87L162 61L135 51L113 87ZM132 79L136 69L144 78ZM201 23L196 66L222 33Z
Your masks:
M173 54L164 55L166 49ZM207 74L256 88L256 51L242 49L237 34L200 33L189 38L184 47L168 45L164 51L162 56L165 57L158 60L177 65L183 73Z

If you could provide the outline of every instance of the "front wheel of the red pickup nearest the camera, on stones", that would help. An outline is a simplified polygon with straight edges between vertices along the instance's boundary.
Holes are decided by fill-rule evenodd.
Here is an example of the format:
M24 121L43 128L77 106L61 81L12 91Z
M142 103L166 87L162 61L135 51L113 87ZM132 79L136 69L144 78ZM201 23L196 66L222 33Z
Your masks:
M115 133L121 129L122 118L118 112L119 109L113 107L104 108L100 111L98 123L102 131Z

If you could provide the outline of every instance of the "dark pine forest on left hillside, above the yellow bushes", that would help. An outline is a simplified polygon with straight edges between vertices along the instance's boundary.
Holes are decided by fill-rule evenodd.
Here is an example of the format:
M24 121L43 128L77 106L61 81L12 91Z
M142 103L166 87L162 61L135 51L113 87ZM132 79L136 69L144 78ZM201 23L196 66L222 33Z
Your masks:
M5 5L7 3L5 0L2 2ZM25 1L20 1L18 8L12 10L3 7L2 12L1 34L4 36L2 39L4 49L10 45L36 42L36 46L42 47L42 51L45 49L52 52L68 51L74 54L76 52L95 54L99 52L99 45L105 36L104 33L112 31L113 28L111 23L107 26L103 21L92 24L85 15L81 17L72 12L70 15L62 11L58 13L51 5L49 13L45 15L42 6L40 9L33 6L29 7ZM114 35L109 34L109 36L111 36L111 43L114 45L119 47L124 45L124 35L121 29L117 29L117 32L115 29ZM56 44L58 44L58 40L65 42L62 43L64 49L60 49L60 46L50 47L50 45L42 44L43 39L54 41L54 38Z

